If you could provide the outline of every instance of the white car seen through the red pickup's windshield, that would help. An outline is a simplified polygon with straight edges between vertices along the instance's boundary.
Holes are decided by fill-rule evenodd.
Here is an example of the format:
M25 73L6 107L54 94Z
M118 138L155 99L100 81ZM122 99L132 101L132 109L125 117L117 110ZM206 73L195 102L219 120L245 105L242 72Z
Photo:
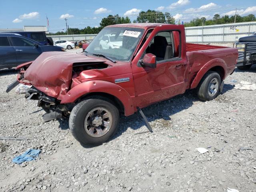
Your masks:
M100 50L102 49L114 49L120 48L123 43L123 36L120 35L116 38L116 35L104 35L100 40Z

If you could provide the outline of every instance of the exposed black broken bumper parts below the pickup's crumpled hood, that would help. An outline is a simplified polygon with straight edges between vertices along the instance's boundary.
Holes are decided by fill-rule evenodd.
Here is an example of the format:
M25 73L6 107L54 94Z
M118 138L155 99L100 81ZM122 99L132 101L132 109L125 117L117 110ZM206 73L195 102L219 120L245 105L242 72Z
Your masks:
M38 100L37 106L42 107L46 112L46 114L43 115L45 122L53 119L66 118L73 108L72 104L60 104L60 100L47 96L34 86L26 92L25 98L26 100Z

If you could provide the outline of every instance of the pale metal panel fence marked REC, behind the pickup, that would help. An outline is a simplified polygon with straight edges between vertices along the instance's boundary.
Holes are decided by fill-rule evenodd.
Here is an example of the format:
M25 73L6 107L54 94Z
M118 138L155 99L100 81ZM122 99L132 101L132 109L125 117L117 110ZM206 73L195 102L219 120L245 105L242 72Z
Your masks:
M191 43L234 43L240 37L252 35L256 32L256 22L186 27L185 32L186 41ZM54 35L49 37L52 37L54 41L84 39L92 41L96 35Z

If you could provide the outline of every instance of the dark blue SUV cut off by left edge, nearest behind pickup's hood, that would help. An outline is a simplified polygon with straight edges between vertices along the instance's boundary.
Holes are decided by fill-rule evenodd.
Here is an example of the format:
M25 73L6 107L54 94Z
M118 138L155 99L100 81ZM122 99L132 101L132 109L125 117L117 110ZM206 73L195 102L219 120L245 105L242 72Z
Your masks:
M65 50L58 46L42 45L20 34L0 33L0 69L33 61L42 52L48 51Z

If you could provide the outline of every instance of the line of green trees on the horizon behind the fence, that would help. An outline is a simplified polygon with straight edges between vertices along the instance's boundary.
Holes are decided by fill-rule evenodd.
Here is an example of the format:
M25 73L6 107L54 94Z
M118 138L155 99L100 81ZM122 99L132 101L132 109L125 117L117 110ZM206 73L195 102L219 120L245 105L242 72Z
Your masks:
M251 22L256 21L254 14L249 14L248 16L222 16L219 14L215 14L212 19L207 20L205 17L202 18L194 18L190 22L184 22L185 27L192 26L202 26L202 25L216 25L216 24L228 24L234 23L236 19L236 23L239 22ZM131 23L132 21L128 16L121 17L118 14L116 15L108 15L105 18L102 18L99 27L90 27L87 26L83 29L78 28L68 28L68 34L98 34L102 28L108 25L114 24L125 24ZM136 20L133 20L133 23L168 23L168 24L180 24L181 20L175 20L175 18L169 12L160 12L155 10L147 10L141 11L137 16ZM50 35L66 35L67 32L56 32L50 33Z

